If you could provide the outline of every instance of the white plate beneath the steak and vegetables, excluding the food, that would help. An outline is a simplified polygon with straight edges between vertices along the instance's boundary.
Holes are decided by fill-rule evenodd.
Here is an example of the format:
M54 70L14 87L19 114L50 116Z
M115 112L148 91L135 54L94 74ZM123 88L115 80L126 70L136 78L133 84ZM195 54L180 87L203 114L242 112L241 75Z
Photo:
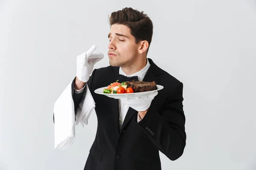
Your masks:
M103 88L98 88L96 89L94 92L96 94L103 94L105 96L114 98L114 99L123 99L123 98L135 98L135 97L140 97L140 96L144 96L150 93L153 93L154 91L159 91L163 89L163 86L161 85L157 85L157 90L154 91L144 91L144 92L137 92L137 93L124 93L124 94L106 94L103 93L103 89L107 88L107 87L103 87Z

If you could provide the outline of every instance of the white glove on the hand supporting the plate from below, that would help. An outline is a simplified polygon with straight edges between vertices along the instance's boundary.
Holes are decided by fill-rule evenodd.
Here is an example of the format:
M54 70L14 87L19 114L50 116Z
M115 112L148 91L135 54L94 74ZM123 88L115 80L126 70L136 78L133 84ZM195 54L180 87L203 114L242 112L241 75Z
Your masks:
M157 94L158 91L155 91L151 94L146 94L135 98L123 98L120 100L122 100L122 102L129 107L133 108L135 111L146 111Z

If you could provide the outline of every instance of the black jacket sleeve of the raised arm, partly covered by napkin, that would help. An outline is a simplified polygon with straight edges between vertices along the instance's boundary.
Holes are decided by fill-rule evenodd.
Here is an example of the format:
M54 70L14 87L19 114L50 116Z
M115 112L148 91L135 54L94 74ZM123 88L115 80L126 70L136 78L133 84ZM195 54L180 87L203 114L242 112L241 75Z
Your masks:
M86 82L89 89L92 89L92 82L93 82L93 76L95 74L95 71L96 71L96 69L93 70L92 75L90 76L88 82ZM76 94L75 93L75 82L76 82L76 77L73 79L73 82L72 82L72 85L71 85L71 87L72 87L72 98L73 98L73 102L74 102L74 109L75 109L75 115L76 115L76 110L79 106L79 103L81 102L81 99L83 98L83 95L86 93L86 88L84 88L84 91L82 93ZM76 117L75 117L75 119L76 119ZM54 113L53 113L53 123L54 123Z

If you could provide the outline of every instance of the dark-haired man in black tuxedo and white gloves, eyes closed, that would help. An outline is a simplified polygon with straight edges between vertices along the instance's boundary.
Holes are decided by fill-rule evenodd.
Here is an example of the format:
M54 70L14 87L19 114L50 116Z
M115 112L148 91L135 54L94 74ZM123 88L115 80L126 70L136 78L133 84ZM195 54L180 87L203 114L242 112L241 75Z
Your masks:
M72 83L75 111L84 96L91 95L96 103L98 127L84 170L161 170L159 150L176 160L186 145L183 84L147 58L153 24L146 14L124 8L111 14L110 26L110 66L93 70L101 55L93 46L77 57ZM94 93L124 77L164 88L140 99Z

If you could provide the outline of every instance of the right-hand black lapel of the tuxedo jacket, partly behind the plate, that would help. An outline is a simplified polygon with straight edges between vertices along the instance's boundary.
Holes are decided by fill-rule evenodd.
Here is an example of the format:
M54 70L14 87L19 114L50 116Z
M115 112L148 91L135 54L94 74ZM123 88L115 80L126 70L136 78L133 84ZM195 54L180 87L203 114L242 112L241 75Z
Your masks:
M159 82L159 78L157 77L160 74L160 68L157 67L157 65L154 64L154 62L148 58L148 61L150 63L150 67L147 71L147 73L145 74L145 77L143 78L144 82L152 82L155 81L156 83ZM125 120L122 124L121 130L120 132L122 132L123 128L128 124L128 122L131 120L131 118L134 116L135 113L138 113L137 111L135 111L133 108L129 107L126 116L125 116Z

